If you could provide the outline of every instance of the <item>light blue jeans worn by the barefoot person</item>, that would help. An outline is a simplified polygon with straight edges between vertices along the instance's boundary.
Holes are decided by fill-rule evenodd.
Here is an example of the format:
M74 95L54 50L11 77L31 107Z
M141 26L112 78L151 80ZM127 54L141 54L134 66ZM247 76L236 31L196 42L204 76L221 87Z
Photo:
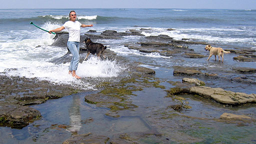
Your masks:
M72 53L72 59L68 70L76 70L79 62L79 44L80 42L76 41L67 41L67 48Z

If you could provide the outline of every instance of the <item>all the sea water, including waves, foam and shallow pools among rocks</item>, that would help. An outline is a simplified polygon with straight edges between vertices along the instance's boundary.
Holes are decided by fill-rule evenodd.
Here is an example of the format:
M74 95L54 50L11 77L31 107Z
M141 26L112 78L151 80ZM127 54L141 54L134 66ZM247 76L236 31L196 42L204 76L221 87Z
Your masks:
M138 105L138 108L134 108L134 111L120 110L120 115L124 116L119 118L106 116L104 113L106 113L107 108L96 107L94 104L84 102L84 95L93 93L91 91L96 89L95 85L90 83L90 80L75 79L68 74L68 62L60 64L50 62L66 54L67 49L51 46L54 41L54 34L49 34L30 24L32 21L35 25L47 30L57 28L68 20L70 10L76 11L79 22L93 24L93 27L81 28L81 34L86 34L90 29L96 30L97 34L105 30L125 32L129 29L148 29L141 33L143 34L142 36L129 35L120 39L97 39L94 42L103 43L117 55L128 59L127 61L138 62L140 66L154 69L156 71L155 77L164 81L161 82L163 85L171 85L167 81L181 81L181 77L173 76L173 65L198 66L207 69L222 68L221 70L228 71L228 74L232 73L230 75L234 79L237 77L233 76L236 74L232 72L233 66L256 68L254 61L233 60L233 57L237 56L235 53L225 54L224 62L222 63L214 61L214 56L209 61L206 61L207 57L193 59L185 56L180 56L181 58L179 56L162 56L158 52L144 53L124 46L125 43L136 43L145 36L164 34L176 40L186 38L192 41L210 43L223 49L256 50L255 9L0 9L2 13L0 15L1 75L35 77L52 83L72 84L89 90L88 93L67 95L59 99L48 100L42 104L31 105L31 107L40 110L42 119L36 120L22 129L0 127L0 135L3 135L2 141L8 141L7 143L61 143L70 137L70 133L68 133L68 130L59 130L59 127L54 127L54 124L60 124L60 126L70 124L68 113L72 112L81 113L80 117L83 121L81 122L81 119L80 121L78 119L78 122L80 122L78 123L78 126L80 126L78 127L79 133L87 133L89 131L112 136L121 132L139 133L148 130L150 126L157 127L157 122L164 121L164 119L158 120L158 116L162 117L163 115L155 115L154 113L157 113L158 110L164 111L161 114L171 111L167 107L174 100L171 100L170 97L166 98L164 89L155 87L145 87L142 91L134 91L133 94L137 96L132 95L129 98L133 100L134 104ZM168 28L174 30L167 30ZM64 29L63 31L66 30ZM189 48L200 54L208 55L208 51L204 50L204 45L191 44ZM79 63L76 73L83 79L90 79L91 77L97 79L113 77L114 79L114 77L121 75L124 70L128 69L118 60L99 60L90 55L86 61ZM208 77L202 80L206 80L205 82L213 87L221 87L226 90L248 94L256 93L255 88L253 88L254 85L250 82L241 84L231 80L229 82L228 80L231 78L221 82L222 77L230 75L226 75L226 73L219 75L220 78L214 79L217 82L210 81L213 78L207 79ZM255 77L252 74L249 76L252 79ZM244 76L242 79L246 80L249 76ZM203 78L203 76L201 77ZM166 123L170 122L171 124L168 124L168 126L158 125L161 127L159 132L163 130L165 133L169 133L169 135L161 135L162 137L166 136L166 138L162 139L163 141L171 139L168 139L168 137L173 137L171 139L173 141L181 139L181 143L188 143L189 140L193 140L189 135L195 135L197 140L201 140L201 143L221 143L223 141L223 143L230 141L231 143L244 143L243 140L249 140L245 141L248 143L255 142L254 122L238 123L236 125L236 123L217 121L223 112L246 114L255 117L255 108L253 106L225 107L225 105L206 98L201 100L198 97L184 97L188 99L187 101L189 101L189 105L192 108L176 113L192 117L197 116L202 119L186 116L172 118L176 113L171 111L174 114L167 115L169 118L166 119ZM77 110L76 108L78 112L75 111ZM157 120L151 123L148 122L153 119L152 117L157 117ZM203 120L205 117L209 120ZM94 122L87 123L86 119L93 119ZM214 119L217 120L215 121ZM179 130L182 127L187 129L184 131ZM12 135L9 133L12 133ZM13 138L13 135L15 138ZM180 135L181 138L178 139ZM153 136L156 136L156 138ZM156 133L152 135L152 139L161 138L161 136ZM204 138L204 141L202 140L203 138L200 139L201 137ZM218 141L218 139L220 140ZM144 143L150 143L146 142L146 138L143 140ZM182 140L187 140L187 142L182 142ZM192 143L196 142L195 140Z

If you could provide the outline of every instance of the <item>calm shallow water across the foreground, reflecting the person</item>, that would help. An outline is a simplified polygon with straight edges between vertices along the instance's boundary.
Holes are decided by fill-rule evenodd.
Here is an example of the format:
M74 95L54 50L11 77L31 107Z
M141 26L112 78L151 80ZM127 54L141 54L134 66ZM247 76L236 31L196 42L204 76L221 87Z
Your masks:
M32 105L41 112L42 118L22 129L0 127L0 143L61 143L72 134L88 132L109 138L123 133L163 133L161 138L141 137L138 141L142 143L243 143L244 140L254 143L256 140L254 122L214 120L223 112L245 114L255 119L255 104L230 107L211 99L184 95L184 101L191 108L178 113L167 108L175 102L171 97L165 97L163 89L144 88L133 92L137 96L130 97L138 106L134 111L122 110L118 112L120 117L113 118L105 115L108 108L84 102L84 96L92 93L77 93Z

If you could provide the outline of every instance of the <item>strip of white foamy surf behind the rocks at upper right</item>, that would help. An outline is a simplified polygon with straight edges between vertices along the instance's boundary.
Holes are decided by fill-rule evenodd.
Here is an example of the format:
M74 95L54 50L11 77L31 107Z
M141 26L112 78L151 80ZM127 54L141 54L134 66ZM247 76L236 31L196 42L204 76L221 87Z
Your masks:
M246 28L240 27L223 27L223 28L176 28L175 30L166 30L166 28L150 28L149 31L142 31L141 34L145 36L157 36L157 35L168 35L174 39L198 39L209 42L251 42L252 44L254 37L231 37L226 33L235 34L237 32L240 34L253 33L254 31L249 31ZM210 33L210 34L208 34Z

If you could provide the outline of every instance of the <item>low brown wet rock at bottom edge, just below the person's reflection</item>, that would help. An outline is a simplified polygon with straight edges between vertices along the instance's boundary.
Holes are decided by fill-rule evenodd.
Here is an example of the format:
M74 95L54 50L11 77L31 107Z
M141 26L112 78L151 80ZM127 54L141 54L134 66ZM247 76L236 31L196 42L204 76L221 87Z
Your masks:
M62 142L62 144L70 144L70 143L95 143L101 144L106 143L109 137L104 135L96 135L92 133L85 133L85 134L77 134L72 135L70 138L66 139Z

